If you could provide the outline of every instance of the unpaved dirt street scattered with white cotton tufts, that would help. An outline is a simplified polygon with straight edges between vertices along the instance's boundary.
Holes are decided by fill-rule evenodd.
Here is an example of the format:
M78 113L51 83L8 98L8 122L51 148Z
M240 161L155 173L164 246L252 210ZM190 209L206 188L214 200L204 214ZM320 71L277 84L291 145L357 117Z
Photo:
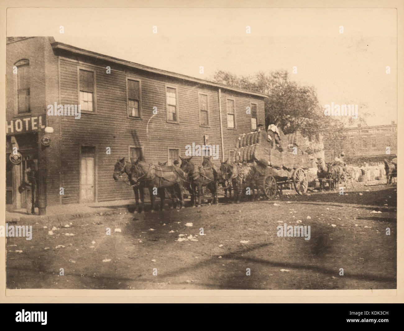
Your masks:
M38 220L31 241L7 238L7 288L396 288L396 186L285 192L272 201ZM278 237L284 223L310 226L310 240Z

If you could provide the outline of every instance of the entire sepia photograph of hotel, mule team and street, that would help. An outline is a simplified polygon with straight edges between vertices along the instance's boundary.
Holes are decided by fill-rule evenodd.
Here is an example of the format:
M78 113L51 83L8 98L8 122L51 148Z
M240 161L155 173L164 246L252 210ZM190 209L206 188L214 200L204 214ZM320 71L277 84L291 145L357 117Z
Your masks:
M8 8L6 289L397 289L397 29Z

